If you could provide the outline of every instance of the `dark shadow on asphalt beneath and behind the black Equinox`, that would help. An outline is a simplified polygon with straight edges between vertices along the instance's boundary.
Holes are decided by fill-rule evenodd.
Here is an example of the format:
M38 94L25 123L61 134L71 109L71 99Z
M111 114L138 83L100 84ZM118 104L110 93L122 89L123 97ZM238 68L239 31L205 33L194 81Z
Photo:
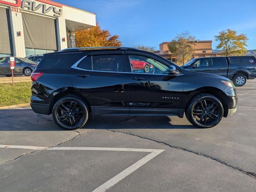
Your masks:
M174 121L175 122L174 122ZM30 108L0 110L0 131L62 131L51 115ZM184 122L184 124L183 124ZM95 116L80 129L198 129L184 119L170 116Z

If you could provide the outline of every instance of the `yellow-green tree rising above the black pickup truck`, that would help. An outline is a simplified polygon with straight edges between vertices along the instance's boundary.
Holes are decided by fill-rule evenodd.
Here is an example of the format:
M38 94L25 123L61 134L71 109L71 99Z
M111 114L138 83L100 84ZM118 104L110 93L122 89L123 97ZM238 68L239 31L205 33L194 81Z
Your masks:
M220 42L217 49L221 49L224 56L244 55L246 53L246 41L248 38L245 34L238 35L236 31L226 29L214 36L215 40Z

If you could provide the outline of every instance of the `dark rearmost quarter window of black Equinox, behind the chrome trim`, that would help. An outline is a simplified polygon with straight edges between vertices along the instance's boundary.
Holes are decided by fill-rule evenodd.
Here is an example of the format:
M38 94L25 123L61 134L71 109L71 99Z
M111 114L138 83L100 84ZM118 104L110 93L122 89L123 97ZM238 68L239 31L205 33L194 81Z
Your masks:
M77 60L80 59L76 57L78 56L78 54L80 53L76 52L76 53L45 54L42 61L38 64L37 69L55 67L61 64L65 64L67 62L71 66Z

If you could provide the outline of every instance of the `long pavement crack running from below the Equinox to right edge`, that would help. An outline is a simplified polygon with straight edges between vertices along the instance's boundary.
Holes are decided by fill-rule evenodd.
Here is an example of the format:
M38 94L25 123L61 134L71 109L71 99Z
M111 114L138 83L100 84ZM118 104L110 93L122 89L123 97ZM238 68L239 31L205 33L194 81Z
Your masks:
M210 159L212 159L212 160L215 160L215 161L217 161L217 162L219 162L219 163L221 163L221 164L223 164L223 165L226 165L226 166L228 166L228 167L230 167L230 168L232 168L232 169L234 169L234 170L237 170L237 171L239 171L239 172L242 172L242 173L244 173L244 174L246 174L246 175L248 175L248 176L250 176L250 177L256 179L256 173L254 173L254 172L248 172L248 171L242 170L242 168L239 168L239 167L236 167L236 166L232 166L232 165L230 165L230 164L228 164L228 163L226 163L226 162L224 162L224 161L222 161L222 160L220 160L220 159L218 159L218 158L214 158L214 157L209 156L209 155L204 154L204 153L195 152L195 151L192 151L192 150L187 149L187 148L184 148L184 147L174 146L174 145L168 144L168 143L166 143L166 142L162 142L162 141L158 141L158 140L154 140L154 139L142 137L142 136L139 136L139 135L136 135L136 134L132 134L132 133L127 133L127 132L122 132L122 131L116 131L116 130L110 130L110 129L106 129L106 130L111 131L111 132L118 132L118 133L123 133L123 134L128 134L128 135L136 136L136 137L139 137L139 138L142 138L142 139L146 139L146 140L150 140L150 141L154 141L154 142L163 144L163 145L168 146L168 147L171 147L171 148L176 148L176 149L184 150L184 151L186 151L186 152L190 152L190 153L193 153L193 154L196 154L196 155L204 156L205 158L210 158Z

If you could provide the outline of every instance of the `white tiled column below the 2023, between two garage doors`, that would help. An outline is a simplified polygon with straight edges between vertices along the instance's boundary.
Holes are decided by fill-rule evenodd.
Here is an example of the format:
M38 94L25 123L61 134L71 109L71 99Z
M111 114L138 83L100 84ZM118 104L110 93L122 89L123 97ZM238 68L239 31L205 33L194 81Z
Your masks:
M25 41L24 41L24 32L22 24L22 15L11 11L9 9L10 16L10 32L12 36L12 50L13 55L16 57L25 57ZM21 32L21 36L18 36L18 32Z

